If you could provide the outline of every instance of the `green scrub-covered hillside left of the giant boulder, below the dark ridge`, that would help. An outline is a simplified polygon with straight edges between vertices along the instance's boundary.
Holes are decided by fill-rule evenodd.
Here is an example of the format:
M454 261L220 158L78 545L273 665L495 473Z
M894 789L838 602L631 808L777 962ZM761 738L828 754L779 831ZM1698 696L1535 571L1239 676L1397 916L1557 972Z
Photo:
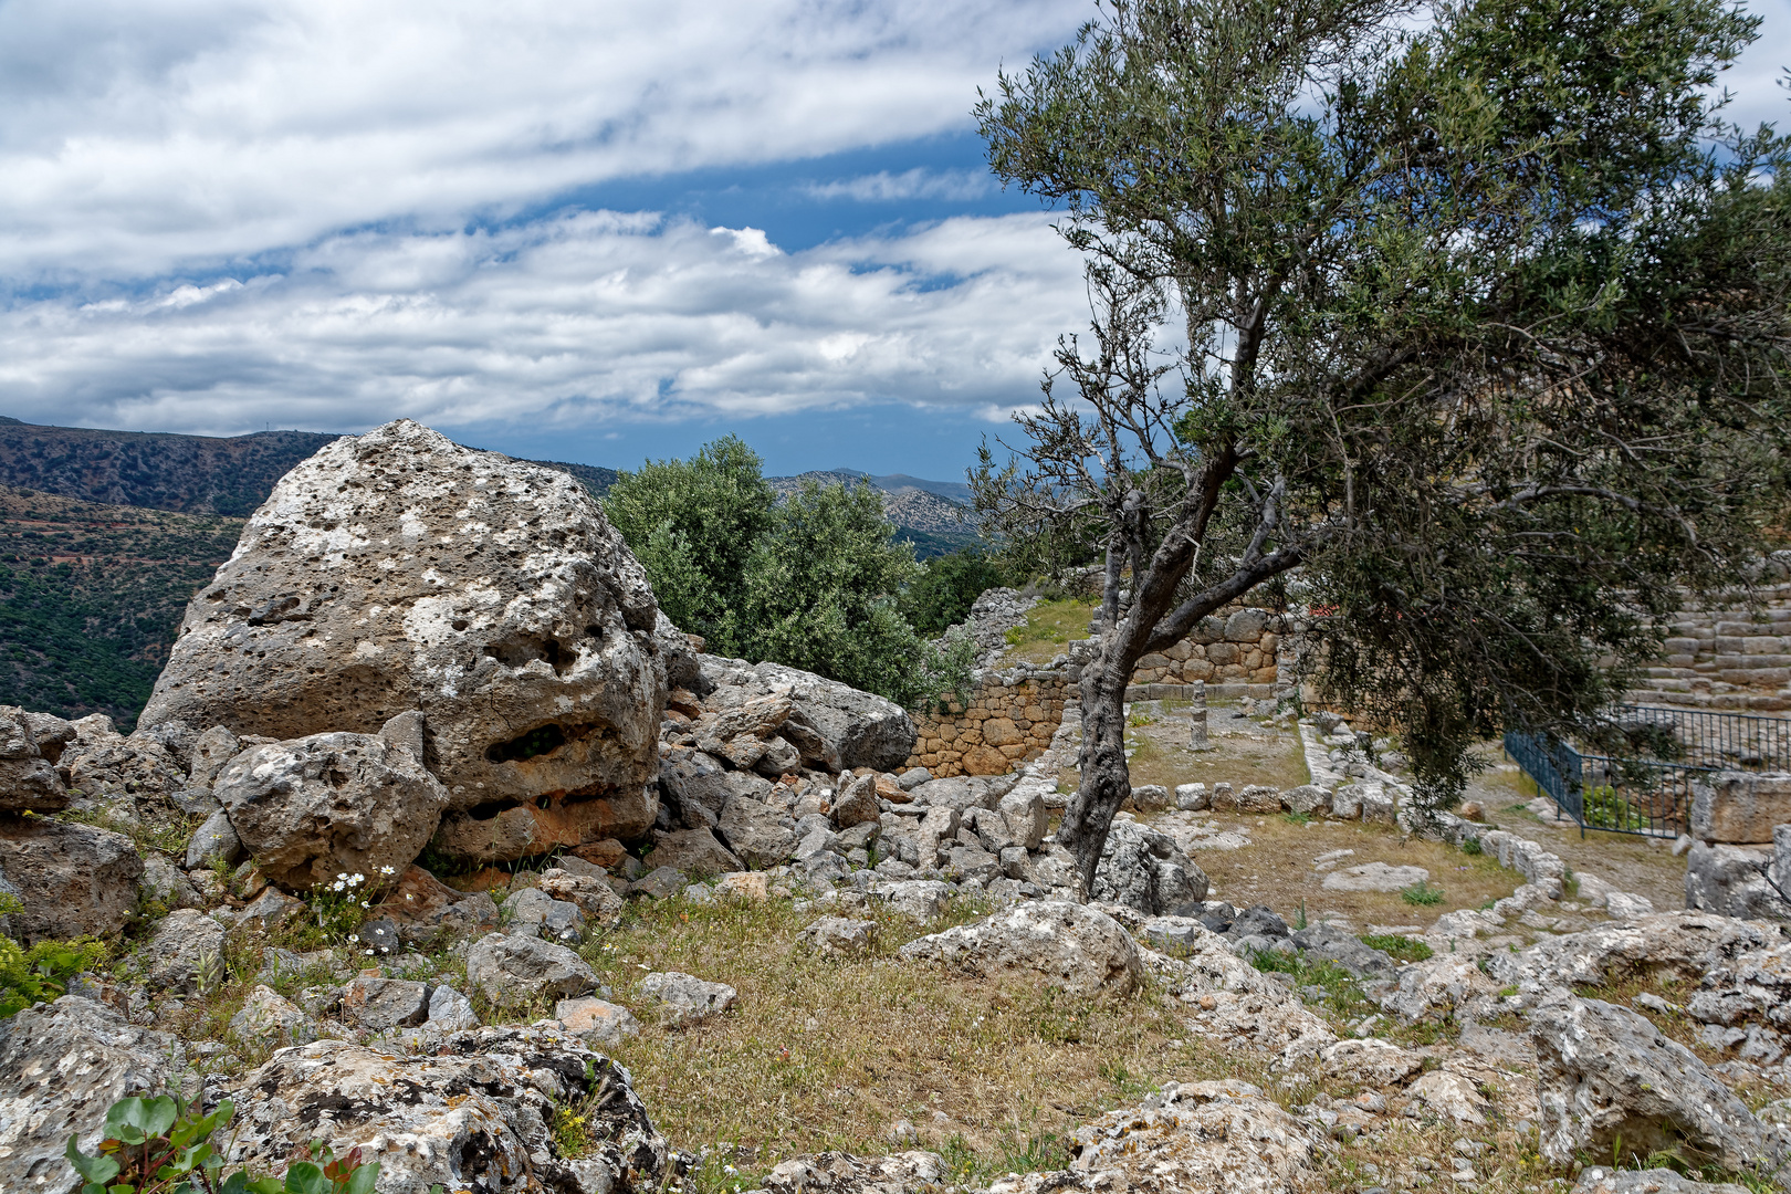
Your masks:
M0 704L134 723L242 525L0 487Z

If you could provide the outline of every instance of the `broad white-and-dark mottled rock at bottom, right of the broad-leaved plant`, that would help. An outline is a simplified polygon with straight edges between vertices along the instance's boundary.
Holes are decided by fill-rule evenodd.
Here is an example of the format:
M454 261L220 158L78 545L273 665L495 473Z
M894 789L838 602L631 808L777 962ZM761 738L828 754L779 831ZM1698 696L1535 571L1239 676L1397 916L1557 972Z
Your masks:
M231 1162L283 1165L310 1139L362 1146L380 1194L632 1194L661 1189L672 1162L629 1072L557 1028L457 1033L435 1056L319 1040L276 1053L236 1099ZM553 1144L561 1106L587 1106L584 1158Z

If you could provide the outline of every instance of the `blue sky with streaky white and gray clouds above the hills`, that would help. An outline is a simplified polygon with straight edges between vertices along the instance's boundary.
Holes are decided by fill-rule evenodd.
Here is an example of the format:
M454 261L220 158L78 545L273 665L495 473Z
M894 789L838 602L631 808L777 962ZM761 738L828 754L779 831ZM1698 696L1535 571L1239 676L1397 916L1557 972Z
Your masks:
M969 109L1091 13L0 0L0 414L958 480L1084 319Z

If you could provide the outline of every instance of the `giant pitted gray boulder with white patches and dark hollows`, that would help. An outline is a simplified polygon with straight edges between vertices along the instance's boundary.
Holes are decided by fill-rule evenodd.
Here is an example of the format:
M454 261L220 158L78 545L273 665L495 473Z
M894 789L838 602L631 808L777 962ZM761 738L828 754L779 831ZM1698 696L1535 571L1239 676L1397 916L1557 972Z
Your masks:
M580 482L399 419L279 480L188 605L141 723L296 739L416 709L446 847L636 838L657 811L657 619Z

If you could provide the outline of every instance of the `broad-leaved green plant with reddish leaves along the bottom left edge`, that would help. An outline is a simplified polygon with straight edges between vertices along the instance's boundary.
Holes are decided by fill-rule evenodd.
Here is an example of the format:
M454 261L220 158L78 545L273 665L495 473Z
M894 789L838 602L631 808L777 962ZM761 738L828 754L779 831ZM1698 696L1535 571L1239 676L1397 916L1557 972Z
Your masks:
M224 1176L224 1158L211 1133L229 1124L236 1106L224 1099L201 1115L184 1099L118 1099L106 1112L99 1155L68 1137L68 1164L81 1174L81 1194L373 1194L380 1162L362 1162L360 1149L337 1156L322 1140L287 1167L285 1180L249 1169Z

